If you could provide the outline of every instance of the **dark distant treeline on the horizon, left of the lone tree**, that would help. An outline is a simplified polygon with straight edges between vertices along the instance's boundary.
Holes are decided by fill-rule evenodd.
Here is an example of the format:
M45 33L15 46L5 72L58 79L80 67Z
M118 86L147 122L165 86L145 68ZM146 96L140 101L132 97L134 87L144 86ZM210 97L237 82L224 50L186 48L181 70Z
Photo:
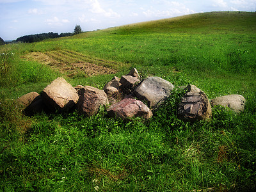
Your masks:
M42 40L45 40L47 38L57 38L57 37L62 37L62 36L72 36L73 33L40 33L40 34L35 34L35 35L25 35L25 36L20 36L17 38L16 42L24 42L24 43L33 43L33 42L40 42Z

